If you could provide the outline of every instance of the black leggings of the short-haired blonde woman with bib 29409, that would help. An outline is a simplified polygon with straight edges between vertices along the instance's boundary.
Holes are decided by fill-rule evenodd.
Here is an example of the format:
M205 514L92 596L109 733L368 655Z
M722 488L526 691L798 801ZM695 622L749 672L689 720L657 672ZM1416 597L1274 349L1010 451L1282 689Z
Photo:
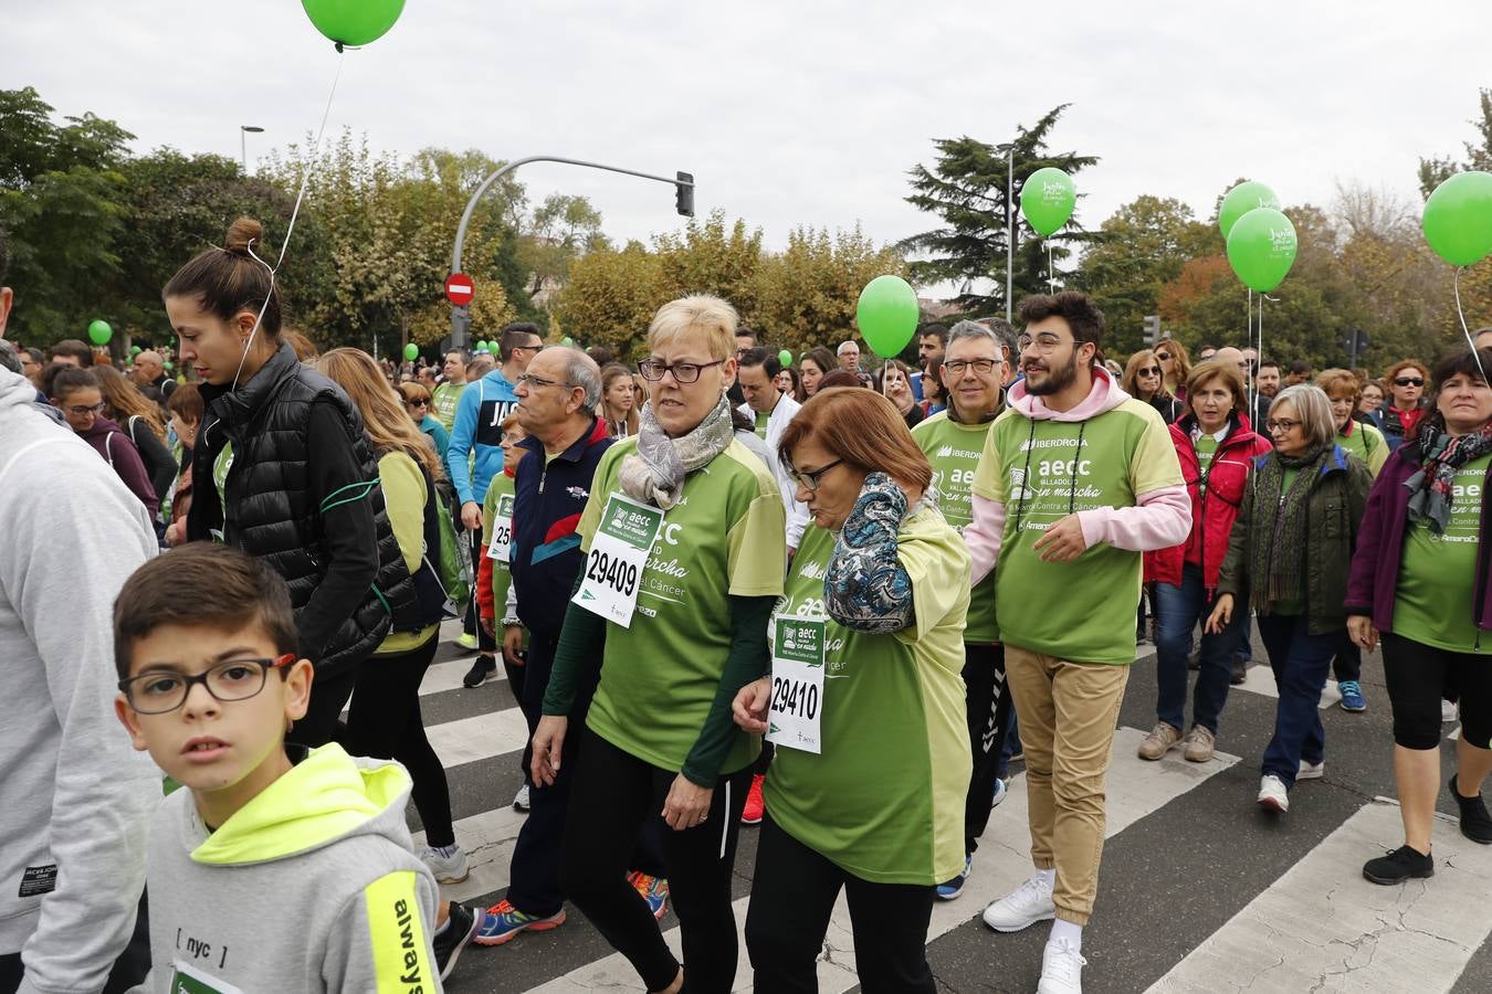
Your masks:
M673 984L679 961L668 951L648 902L627 882L637 836L658 818L674 776L624 753L589 729L570 787L564 829L564 890L649 991ZM750 766L715 782L710 812L694 829L662 829L668 894L683 936L691 994L730 994L736 979L736 915L731 870L736 835L750 788Z

